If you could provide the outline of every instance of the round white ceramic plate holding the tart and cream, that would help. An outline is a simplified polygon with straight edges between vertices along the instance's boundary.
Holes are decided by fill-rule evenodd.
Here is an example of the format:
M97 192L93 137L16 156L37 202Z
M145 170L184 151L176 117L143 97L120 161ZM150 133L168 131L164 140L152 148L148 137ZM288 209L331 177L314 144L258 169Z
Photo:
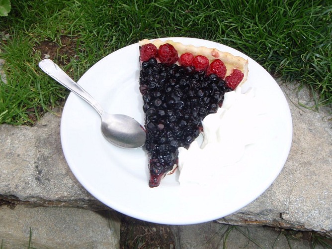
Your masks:
M167 39L167 38L166 38ZM126 150L108 143L98 114L71 93L63 111L61 141L76 178L96 199L123 214L160 224L195 224L227 216L262 194L283 168L292 141L286 99L274 79L255 61L225 45L193 38L171 38L183 44L215 47L249 59L249 87L259 89L266 107L264 138L246 147L242 163L225 169L208 186L182 186L178 173L149 188L143 148ZM164 39L165 40L165 39ZM125 114L144 124L139 93L138 44L119 49L92 66L79 80L108 113ZM203 167L202 167L203 168Z

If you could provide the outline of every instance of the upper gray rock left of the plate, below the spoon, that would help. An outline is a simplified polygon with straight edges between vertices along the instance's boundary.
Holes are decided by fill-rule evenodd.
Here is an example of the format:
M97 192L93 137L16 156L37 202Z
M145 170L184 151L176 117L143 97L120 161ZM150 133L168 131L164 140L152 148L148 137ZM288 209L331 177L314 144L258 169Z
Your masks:
M0 199L105 209L68 167L61 147L60 120L60 110L54 110L34 127L0 125Z

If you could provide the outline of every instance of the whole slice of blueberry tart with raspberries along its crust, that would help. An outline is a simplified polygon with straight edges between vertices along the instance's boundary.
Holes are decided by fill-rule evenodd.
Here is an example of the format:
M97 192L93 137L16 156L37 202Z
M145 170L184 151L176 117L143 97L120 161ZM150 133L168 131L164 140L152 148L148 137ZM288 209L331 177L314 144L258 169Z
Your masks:
M171 40L142 40L139 49L149 186L157 187L175 170L178 148L188 148L224 94L246 81L248 60Z

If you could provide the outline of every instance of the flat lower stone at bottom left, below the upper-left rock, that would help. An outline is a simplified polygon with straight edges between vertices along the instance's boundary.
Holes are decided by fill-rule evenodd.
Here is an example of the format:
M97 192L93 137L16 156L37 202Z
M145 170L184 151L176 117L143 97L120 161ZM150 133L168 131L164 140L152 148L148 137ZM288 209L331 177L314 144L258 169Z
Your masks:
M0 248L116 249L120 220L114 211L93 212L78 208L0 208ZM30 235L31 231L31 235ZM2 247L1 247L2 243Z

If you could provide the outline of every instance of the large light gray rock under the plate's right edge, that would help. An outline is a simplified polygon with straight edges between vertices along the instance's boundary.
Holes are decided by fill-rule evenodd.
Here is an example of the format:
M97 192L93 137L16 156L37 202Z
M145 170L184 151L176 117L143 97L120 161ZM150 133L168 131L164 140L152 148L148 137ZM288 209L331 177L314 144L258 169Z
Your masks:
M313 230L332 237L332 120L328 108L315 112L306 89L281 85L293 119L287 162L274 183L255 201L219 219L233 225L268 225ZM330 111L331 112L331 111Z

